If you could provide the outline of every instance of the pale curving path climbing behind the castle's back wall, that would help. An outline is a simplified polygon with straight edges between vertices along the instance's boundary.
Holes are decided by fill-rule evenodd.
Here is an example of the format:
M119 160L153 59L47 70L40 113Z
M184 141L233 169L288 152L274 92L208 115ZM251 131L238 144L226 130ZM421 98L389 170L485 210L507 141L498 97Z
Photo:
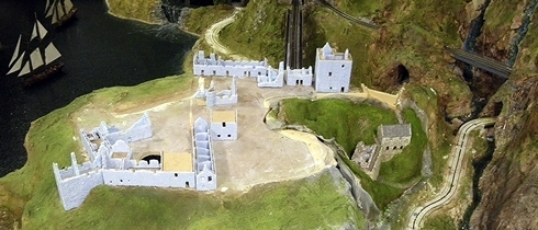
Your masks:
M237 9L236 8L235 12L231 16L228 16L228 18L224 19L223 21L220 21L220 22L211 25L211 27L208 28L208 31L205 31L204 37L205 37L205 42L215 51L221 53L223 55L227 55L227 56L229 56L231 58L233 58L235 60L247 60L248 58L246 58L244 56L234 55L233 51L229 50L226 46L224 46L221 43L221 41L218 39L218 34L221 33L222 28L224 28L226 25L232 24L235 21L235 15L239 11L240 11L240 9Z

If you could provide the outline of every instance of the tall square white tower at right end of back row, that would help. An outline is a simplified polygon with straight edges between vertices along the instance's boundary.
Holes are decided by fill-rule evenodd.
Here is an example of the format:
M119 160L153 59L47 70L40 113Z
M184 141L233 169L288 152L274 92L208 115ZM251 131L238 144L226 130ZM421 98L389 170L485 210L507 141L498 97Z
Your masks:
M344 93L349 91L352 59L349 50L336 53L328 43L316 49L315 89L317 92Z

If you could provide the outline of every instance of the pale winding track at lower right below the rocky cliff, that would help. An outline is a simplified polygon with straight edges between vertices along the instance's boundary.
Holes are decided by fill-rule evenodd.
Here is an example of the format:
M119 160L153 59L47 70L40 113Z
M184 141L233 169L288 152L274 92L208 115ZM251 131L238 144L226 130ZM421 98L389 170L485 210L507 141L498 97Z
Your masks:
M450 159L450 172L446 175L445 181L448 182L442 187L440 194L434 199L426 203L424 206L415 208L411 214L407 222L407 229L421 229L424 219L431 214L435 209L450 202L452 196L458 191L459 180L464 173L461 168L463 162L463 154L466 153L469 133L495 123L495 118L479 118L463 124L458 130L456 136L457 145L452 147L452 154Z

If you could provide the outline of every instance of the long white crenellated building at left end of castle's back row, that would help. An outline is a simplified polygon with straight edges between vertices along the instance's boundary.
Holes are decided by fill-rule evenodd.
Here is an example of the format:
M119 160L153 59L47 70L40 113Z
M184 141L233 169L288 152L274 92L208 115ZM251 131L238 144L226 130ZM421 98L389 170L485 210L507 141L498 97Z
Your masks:
M192 60L192 70L195 76L215 77L258 77L268 76L269 65L267 58L264 61L234 61L222 60L221 56L215 58L215 54L210 54L210 58L204 57L204 51L198 51Z

